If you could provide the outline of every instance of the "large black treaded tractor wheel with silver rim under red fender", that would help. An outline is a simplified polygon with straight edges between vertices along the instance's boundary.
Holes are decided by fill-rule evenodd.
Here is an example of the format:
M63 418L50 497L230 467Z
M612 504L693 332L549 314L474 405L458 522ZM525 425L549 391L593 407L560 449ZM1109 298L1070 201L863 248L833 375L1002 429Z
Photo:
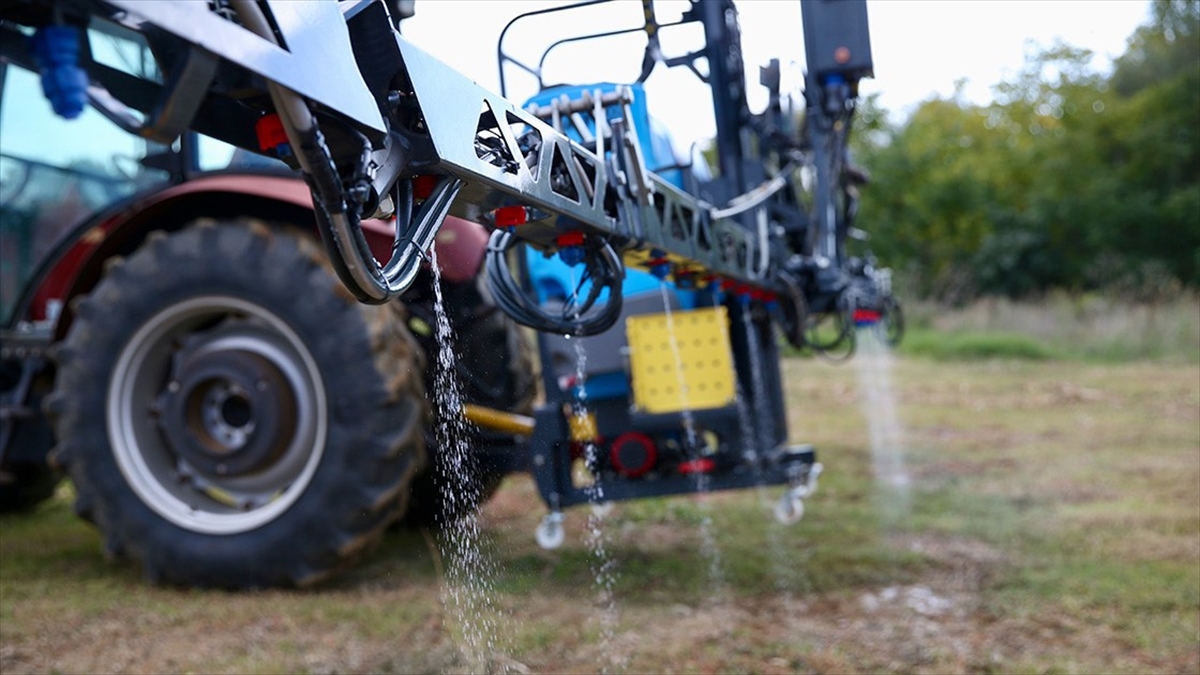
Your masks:
M308 586L374 544L422 467L420 348L301 233L202 221L114 261L47 405L76 510L152 583Z

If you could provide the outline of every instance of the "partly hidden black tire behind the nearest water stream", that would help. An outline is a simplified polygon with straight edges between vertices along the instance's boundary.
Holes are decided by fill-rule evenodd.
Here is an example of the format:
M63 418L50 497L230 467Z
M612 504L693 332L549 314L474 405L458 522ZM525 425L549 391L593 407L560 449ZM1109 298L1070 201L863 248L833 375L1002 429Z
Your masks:
M432 298L432 279L422 274L414 283L408 298L410 322L420 327L413 331L431 363L436 358L438 344L433 334L437 321ZM536 395L535 370L529 342L520 327L499 311L480 289L476 281L463 283L443 282L444 311L454 333L455 378L458 393L466 402L476 404L517 414L530 414ZM436 368L426 372L426 389L432 392ZM433 434L426 435L430 462L413 480L412 501L404 512L402 524L408 527L442 527L464 515L474 513L496 495L504 482L504 472L490 466L490 450L512 450L516 442L511 436L490 432L467 425L466 442L479 464L456 467L466 474L448 480L438 471L440 447ZM450 483L457 483L454 488ZM454 498L446 498L446 490L456 489Z

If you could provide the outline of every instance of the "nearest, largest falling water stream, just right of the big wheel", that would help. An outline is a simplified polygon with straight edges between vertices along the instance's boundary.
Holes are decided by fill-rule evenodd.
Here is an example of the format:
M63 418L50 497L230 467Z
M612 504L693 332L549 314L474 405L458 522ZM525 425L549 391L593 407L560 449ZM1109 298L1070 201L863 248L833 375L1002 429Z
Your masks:
M494 558L482 548L475 504L481 501L479 461L468 442L463 398L455 374L454 329L442 295L437 250L430 251L433 269L433 311L437 318L437 369L433 400L437 423L436 471L442 491L444 526L440 549L446 561L442 602L461 633L460 647L468 671L491 673L505 661L499 641L502 616L496 607ZM458 514L455 518L455 514Z

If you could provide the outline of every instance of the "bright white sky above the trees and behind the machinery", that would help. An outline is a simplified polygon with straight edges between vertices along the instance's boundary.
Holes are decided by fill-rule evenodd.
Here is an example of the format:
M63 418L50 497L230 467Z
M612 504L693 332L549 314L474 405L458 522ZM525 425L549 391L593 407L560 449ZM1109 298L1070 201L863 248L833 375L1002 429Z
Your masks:
M554 5L542 0L416 0L416 16L404 22L404 35L480 85L499 91L496 43L500 29L522 11ZM640 2L618 0L616 5L589 8L583 20L544 22L532 31L510 31L508 49L533 62L548 44L539 35L564 37L589 30L605 30L605 20L620 17L620 28L636 23ZM750 73L750 107L757 110L766 96L757 85L756 68L770 58L793 62L796 82L804 61L799 0L743 0L737 4L742 19L743 52ZM678 14L667 0L656 0L660 20ZM672 12L673 10L673 12ZM602 13L601 13L602 12ZM571 12L564 12L563 17ZM869 0L868 14L875 79L864 80L863 94L880 92L883 107L905 114L916 103L935 95L948 96L958 79L967 80L968 101L985 103L991 86L1016 73L1031 47L1049 47L1056 38L1096 53L1093 68L1106 71L1112 58L1124 50L1133 30L1148 16L1148 0ZM677 29L683 32L688 29ZM664 32L664 40L667 34ZM526 49L512 38L528 40ZM625 82L637 74L641 46L632 38L622 47L613 38L607 48L558 55L564 67L562 79L572 84L614 79ZM678 54L695 43L683 41ZM670 54L668 54L670 55ZM569 66L569 67L568 67ZM602 66L602 67L601 67ZM592 74L589 70L594 70ZM707 89L695 77L674 68L659 73L647 85L647 98L655 117L672 129L676 141L689 143L714 135L712 104ZM576 74L580 73L580 74ZM521 102L533 94L528 79L510 74L509 97ZM786 82L786 80L785 80ZM796 88L798 91L798 86Z

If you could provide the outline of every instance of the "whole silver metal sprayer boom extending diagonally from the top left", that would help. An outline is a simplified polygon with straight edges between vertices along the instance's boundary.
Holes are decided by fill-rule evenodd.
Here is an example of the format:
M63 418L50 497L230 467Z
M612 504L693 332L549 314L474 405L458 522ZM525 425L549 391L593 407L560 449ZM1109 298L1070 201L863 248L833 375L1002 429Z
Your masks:
M130 131L169 142L199 129L301 169L337 271L360 300L407 288L446 213L540 249L574 243L631 267L794 292L773 265L763 208L794 166L720 208L707 203L647 169L637 137L648 130L636 129L628 92L594 97L606 129L584 145L556 129L558 110L527 112L401 37L382 0L10 0L2 16L40 32L74 30L66 42L76 44L52 56L71 73L60 79ZM89 62L89 49L72 62L86 42L78 29L97 23L143 34L162 55L162 83L109 72ZM6 38L16 32L6 26ZM6 56L30 59L14 47ZM282 133L264 139L264 124ZM414 195L418 177L438 185L433 199ZM362 240L359 220L371 216L397 216L386 263Z

